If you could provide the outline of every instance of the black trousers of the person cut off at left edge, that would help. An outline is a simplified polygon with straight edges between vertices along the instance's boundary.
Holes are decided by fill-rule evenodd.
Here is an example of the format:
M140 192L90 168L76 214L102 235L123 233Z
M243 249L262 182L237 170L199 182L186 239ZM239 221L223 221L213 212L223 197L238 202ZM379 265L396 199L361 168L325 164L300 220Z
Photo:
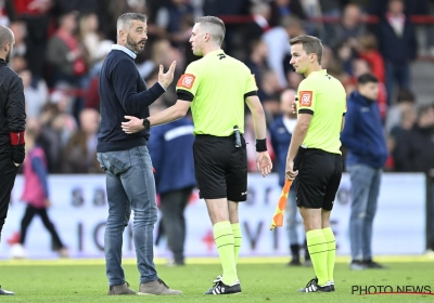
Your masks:
M9 203L11 201L11 192L15 183L18 168L14 166L11 159L0 163L0 240L1 230L8 215Z

